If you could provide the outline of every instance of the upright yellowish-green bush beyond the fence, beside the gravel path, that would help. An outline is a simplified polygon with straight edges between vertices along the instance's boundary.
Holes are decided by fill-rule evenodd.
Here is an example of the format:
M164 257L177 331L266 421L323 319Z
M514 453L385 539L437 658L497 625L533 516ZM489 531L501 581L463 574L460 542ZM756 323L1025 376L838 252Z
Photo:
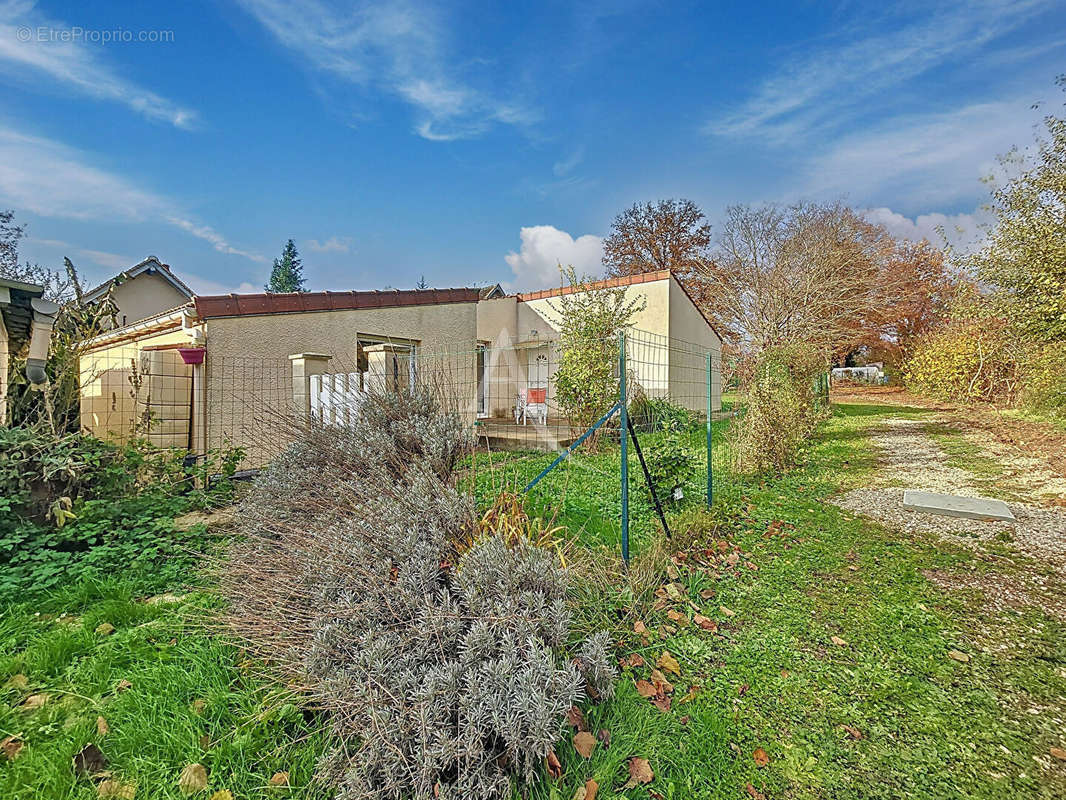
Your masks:
M826 413L818 390L818 375L824 371L825 359L804 345L759 354L744 387L744 413L733 422L738 471L781 471L796 462Z

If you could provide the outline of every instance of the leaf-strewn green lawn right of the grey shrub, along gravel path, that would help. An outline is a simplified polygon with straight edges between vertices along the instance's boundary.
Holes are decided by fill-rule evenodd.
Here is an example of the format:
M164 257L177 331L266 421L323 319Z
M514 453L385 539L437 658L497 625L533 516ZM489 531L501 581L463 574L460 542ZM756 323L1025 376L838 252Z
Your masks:
M690 510L675 516L676 527L695 524L711 531L704 542L736 546L740 569L682 564L675 582L684 602L659 610L634 602L625 587L591 601L586 624L612 626L619 656L639 653L647 666L626 670L613 703L586 710L594 730L610 731L610 748L597 747L585 761L563 746L564 779L535 796L570 798L587 778L600 784L599 797L750 797L748 785L771 798L1066 796L1064 764L1049 755L1066 746L1063 624L1038 609L983 610L980 594L947 594L922 574L987 571L990 557L889 532L825 502L870 477L865 432L889 415L925 412L838 405L806 464L777 480L730 478L716 438L714 512L700 519ZM511 468L500 460L497 482ZM617 452L592 461L571 465L540 501L559 508L608 558L617 546L617 523L609 518ZM524 479L543 460L506 463ZM487 479L479 473L478 480ZM597 507L578 499L593 485ZM693 492L690 509L699 505ZM596 512L603 513L598 525ZM653 517L648 509L635 515L639 549ZM784 533L768 537L777 530ZM701 597L705 590L713 597ZM692 618L689 602L716 621L718 634L666 627L676 626L669 609ZM633 634L637 620L651 630L646 641ZM664 650L681 670L668 675L668 711L634 688ZM760 748L764 767L753 756ZM620 791L632 756L648 758L656 780Z

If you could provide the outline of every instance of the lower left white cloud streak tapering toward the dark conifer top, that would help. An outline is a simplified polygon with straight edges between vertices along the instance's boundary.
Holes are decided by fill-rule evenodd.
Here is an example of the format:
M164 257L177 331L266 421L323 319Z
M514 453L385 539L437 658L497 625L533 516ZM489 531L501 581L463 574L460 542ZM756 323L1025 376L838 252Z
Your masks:
M220 253L266 259L239 250L219 231L189 219L176 203L85 163L66 145L0 126L0 201L41 217L108 222L159 221L209 242Z

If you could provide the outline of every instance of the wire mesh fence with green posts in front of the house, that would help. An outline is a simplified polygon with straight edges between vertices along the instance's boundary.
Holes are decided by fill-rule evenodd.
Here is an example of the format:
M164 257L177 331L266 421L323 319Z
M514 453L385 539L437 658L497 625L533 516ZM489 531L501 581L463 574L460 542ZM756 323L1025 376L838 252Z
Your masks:
M529 496L544 513L563 513L577 535L616 545L627 517L637 532L656 525L645 467L667 508L709 496L715 464L710 423L729 414L722 362L706 345L634 330L582 348L587 352L579 358L574 348L549 338L435 350L386 340L360 341L353 353L333 357L201 352L199 363L187 363L190 348L130 343L83 357L82 425L102 437L141 437L195 454L239 447L241 467L259 468L300 426L350 425L367 393L421 387L472 427L477 449L467 477L484 495L526 490L556 453L615 409ZM640 453L623 446L616 407L623 391ZM662 478L664 460L674 471ZM632 490L629 497L624 486Z

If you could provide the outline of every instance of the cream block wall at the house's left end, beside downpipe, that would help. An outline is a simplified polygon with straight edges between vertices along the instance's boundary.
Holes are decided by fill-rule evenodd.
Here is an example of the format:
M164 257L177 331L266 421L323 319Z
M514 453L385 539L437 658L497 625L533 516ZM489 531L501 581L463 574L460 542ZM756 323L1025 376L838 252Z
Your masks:
M82 428L101 438L125 441L138 434L158 447L185 447L191 368L176 350L145 348L190 343L177 329L82 355Z

